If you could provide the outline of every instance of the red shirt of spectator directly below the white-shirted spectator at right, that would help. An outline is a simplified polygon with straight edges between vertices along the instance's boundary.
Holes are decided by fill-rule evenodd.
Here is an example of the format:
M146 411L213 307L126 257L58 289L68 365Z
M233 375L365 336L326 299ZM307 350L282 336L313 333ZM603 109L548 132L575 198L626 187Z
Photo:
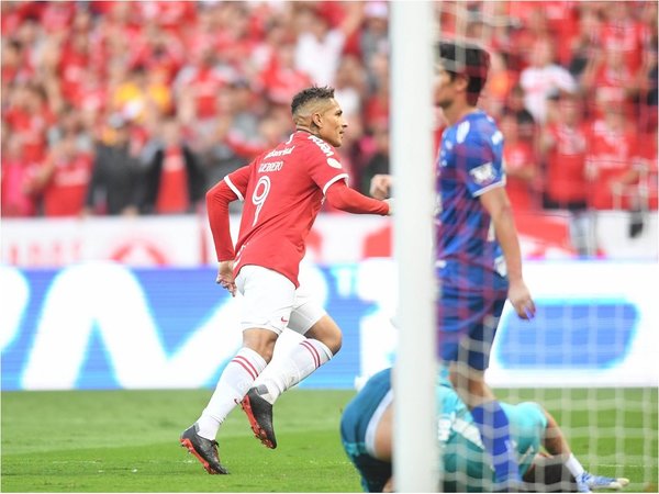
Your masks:
M562 124L549 125L548 132L554 138L554 147L547 156L547 176L545 188L547 195L555 202L567 204L585 201L585 154L587 131Z

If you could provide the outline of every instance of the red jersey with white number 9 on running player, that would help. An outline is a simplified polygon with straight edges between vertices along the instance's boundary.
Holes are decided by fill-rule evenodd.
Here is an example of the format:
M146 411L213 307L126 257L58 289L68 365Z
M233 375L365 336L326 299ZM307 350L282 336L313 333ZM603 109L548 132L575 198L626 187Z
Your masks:
M348 175L334 147L298 131L224 178L244 200L236 244L235 273L246 265L272 269L299 285L305 238L327 188ZM220 251L221 260L226 260Z

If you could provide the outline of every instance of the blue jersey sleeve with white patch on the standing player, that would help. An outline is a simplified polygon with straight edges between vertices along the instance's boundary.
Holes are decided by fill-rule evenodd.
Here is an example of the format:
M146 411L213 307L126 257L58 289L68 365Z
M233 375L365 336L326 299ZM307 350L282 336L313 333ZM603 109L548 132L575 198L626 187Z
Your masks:
M505 186L502 141L501 133L496 131L492 136L471 135L456 146L458 169L472 197Z

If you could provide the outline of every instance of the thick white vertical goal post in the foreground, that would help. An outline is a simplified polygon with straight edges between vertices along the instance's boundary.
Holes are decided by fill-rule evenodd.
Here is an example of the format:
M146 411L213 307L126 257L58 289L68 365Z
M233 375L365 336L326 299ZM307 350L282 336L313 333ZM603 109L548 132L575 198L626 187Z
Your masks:
M433 267L433 2L391 3L393 245L399 283L399 346L393 368L393 476L396 492L435 492Z

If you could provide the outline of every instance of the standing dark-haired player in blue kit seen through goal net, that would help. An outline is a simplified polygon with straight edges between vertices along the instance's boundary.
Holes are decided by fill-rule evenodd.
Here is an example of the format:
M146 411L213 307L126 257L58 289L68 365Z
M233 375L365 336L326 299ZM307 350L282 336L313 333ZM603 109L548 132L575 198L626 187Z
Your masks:
M436 270L439 358L492 458L498 491L521 482L509 419L484 382L506 297L523 318L535 305L522 278L522 256L502 164L503 137L477 106L490 56L481 47L440 43L435 105L448 122L436 164Z

